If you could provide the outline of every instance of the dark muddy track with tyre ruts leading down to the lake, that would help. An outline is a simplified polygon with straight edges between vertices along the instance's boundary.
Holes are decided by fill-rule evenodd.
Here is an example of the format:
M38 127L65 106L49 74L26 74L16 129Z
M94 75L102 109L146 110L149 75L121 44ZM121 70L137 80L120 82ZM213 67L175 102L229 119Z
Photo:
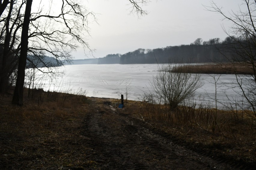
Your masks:
M96 162L91 169L239 169L173 142L108 103L86 116L83 135L92 148L87 158Z

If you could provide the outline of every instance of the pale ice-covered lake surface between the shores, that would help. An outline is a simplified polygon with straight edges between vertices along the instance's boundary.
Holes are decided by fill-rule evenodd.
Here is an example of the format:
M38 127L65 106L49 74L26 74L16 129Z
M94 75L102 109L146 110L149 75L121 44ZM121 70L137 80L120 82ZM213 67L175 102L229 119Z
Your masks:
M161 66L160 66L161 67ZM62 76L54 80L40 80L41 88L50 91L76 93L79 89L87 91L89 97L120 98L128 92L128 100L141 100L144 93L151 93L153 75L157 74L157 64L85 64L66 65L59 68ZM40 73L39 73L40 74ZM204 85L195 92L194 101L204 105L214 106L215 84L213 77L202 75ZM218 78L216 76L215 78ZM239 88L228 88L222 83L232 86L235 75L221 75L217 86L218 107L230 103L228 98L242 104L242 98L235 91ZM227 98L228 97L228 98ZM222 104L221 104L222 103Z

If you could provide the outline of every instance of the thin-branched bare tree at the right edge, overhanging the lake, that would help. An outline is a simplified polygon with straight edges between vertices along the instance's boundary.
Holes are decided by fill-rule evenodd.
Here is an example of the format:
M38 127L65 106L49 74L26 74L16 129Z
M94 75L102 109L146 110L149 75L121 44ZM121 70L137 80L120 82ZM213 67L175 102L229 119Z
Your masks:
M256 116L256 1L242 2L239 11L232 11L228 15L213 1L211 6L206 6L206 9L221 14L224 19L233 23L229 30L225 30L229 37L224 41L224 47L219 50L232 63L236 84ZM238 72L236 70L238 67L249 70L247 72L250 74Z

